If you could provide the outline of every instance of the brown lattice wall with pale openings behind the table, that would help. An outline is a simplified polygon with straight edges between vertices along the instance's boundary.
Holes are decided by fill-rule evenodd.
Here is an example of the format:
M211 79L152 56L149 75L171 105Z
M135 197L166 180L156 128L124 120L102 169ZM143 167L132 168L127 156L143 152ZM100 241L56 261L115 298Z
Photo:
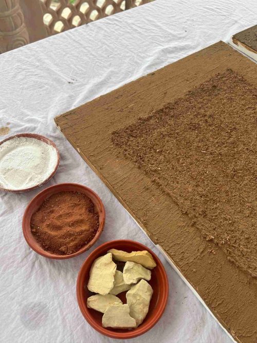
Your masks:
M40 0L48 35L93 22L152 0Z

